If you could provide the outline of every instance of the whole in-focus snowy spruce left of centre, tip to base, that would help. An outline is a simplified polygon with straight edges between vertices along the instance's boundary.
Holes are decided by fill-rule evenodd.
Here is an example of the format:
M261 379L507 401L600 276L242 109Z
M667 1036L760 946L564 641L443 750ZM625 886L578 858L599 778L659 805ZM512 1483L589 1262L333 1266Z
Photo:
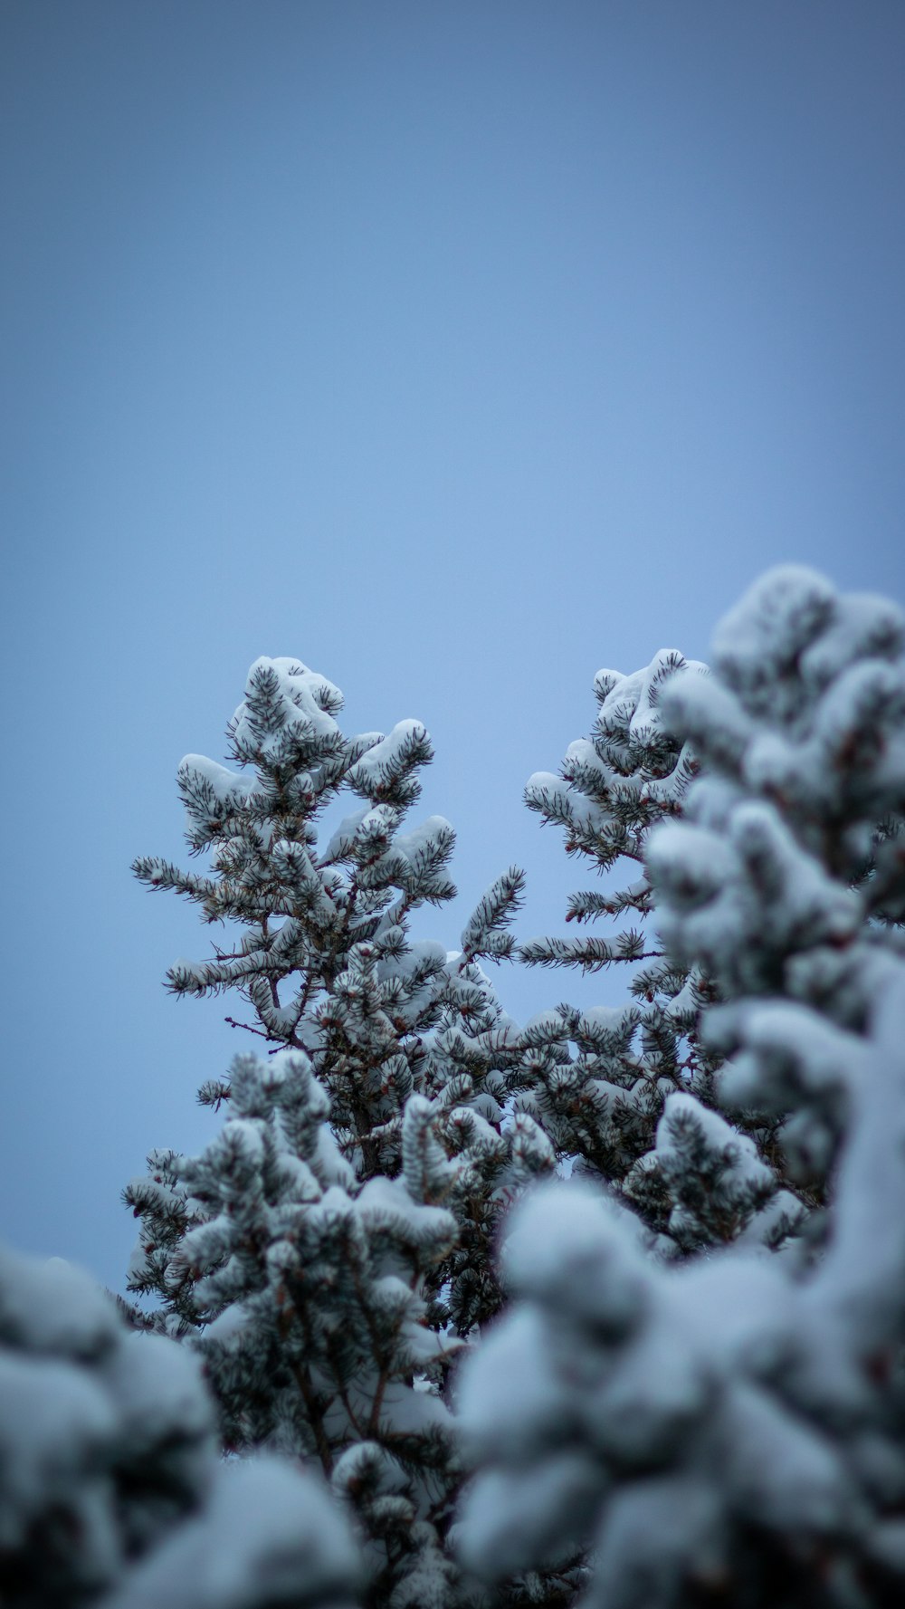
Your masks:
M141 1218L129 1284L159 1303L137 1324L204 1356L230 1450L315 1461L349 1500L370 1601L442 1609L474 1598L445 1549L450 1363L500 1305L489 1252L505 1207L553 1168L532 1118L508 1110L518 1033L479 965L511 953L522 879L484 896L461 953L415 941L412 911L455 893L448 822L400 830L429 739L407 721L347 740L339 706L299 661L259 660L228 727L240 769L180 766L211 870L135 864L238 928L169 986L236 988L272 1054L203 1086L227 1115L199 1157L151 1152L127 1187ZM363 804L318 851L342 788Z

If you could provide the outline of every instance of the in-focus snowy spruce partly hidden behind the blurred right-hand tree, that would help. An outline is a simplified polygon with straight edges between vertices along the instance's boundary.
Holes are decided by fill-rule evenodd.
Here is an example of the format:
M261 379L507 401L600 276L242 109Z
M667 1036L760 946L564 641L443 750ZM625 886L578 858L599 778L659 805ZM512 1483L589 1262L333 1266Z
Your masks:
M598 671L592 737L569 747L559 777L538 772L526 788L529 808L564 830L566 853L609 883L572 895L566 920L630 925L614 938L540 938L519 949L529 965L632 965L624 1006L559 1006L527 1025L522 1046L535 1076L529 1101L558 1160L611 1183L667 1258L743 1232L780 1244L797 1218L775 1150L764 1154L759 1133L739 1134L704 1110L717 1104L720 1062L698 1033L701 1009L719 998L714 975L665 953L651 920L648 837L682 816L699 767L685 734L662 719L677 679L698 689L707 668L661 650L632 676ZM625 866L633 880L614 887Z

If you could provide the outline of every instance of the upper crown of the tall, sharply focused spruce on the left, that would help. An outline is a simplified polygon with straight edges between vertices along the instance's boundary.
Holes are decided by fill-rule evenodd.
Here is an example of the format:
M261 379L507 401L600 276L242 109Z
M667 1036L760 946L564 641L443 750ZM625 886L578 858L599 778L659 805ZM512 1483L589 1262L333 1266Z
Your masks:
M170 990L238 990L252 1007L251 1033L312 1052L362 1175L399 1167L399 1118L447 959L437 944L410 941L407 917L455 893L455 838L439 816L399 830L431 759L424 727L402 721L386 737L346 739L341 706L339 690L296 660L252 665L228 727L240 769L199 755L178 769L188 845L211 856L211 870L145 858L135 872L185 893L207 924L228 924L235 941L178 962ZM318 854L317 821L342 788L363 803ZM219 1094L212 1084L206 1099Z

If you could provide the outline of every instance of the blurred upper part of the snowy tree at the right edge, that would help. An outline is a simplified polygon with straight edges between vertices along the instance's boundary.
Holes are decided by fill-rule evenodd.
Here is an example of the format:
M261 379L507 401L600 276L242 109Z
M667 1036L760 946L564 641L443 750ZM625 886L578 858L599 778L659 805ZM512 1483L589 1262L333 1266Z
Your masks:
M773 1131L817 1200L844 1068L903 953L902 642L894 603L783 568L720 624L719 674L677 677L664 700L704 774L651 846L659 927L725 1002L706 1022L731 1056L720 1102Z

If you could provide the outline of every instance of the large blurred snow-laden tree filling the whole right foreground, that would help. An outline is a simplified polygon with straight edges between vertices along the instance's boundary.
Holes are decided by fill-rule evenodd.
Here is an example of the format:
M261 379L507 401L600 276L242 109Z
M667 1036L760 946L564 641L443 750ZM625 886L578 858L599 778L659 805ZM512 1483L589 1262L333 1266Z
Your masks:
M902 1599L903 639L892 605L783 570L722 624L714 674L664 689L701 774L646 845L656 922L719 994L715 1096L760 1141L727 1125L736 1170L772 1144L825 1212L807 1255L736 1242L674 1268L588 1181L516 1213L514 1305L461 1384L481 1471L461 1551L490 1580L590 1548L601 1609ZM677 1134L719 1121L665 1102L680 1204ZM720 1181L696 1187L704 1210Z

